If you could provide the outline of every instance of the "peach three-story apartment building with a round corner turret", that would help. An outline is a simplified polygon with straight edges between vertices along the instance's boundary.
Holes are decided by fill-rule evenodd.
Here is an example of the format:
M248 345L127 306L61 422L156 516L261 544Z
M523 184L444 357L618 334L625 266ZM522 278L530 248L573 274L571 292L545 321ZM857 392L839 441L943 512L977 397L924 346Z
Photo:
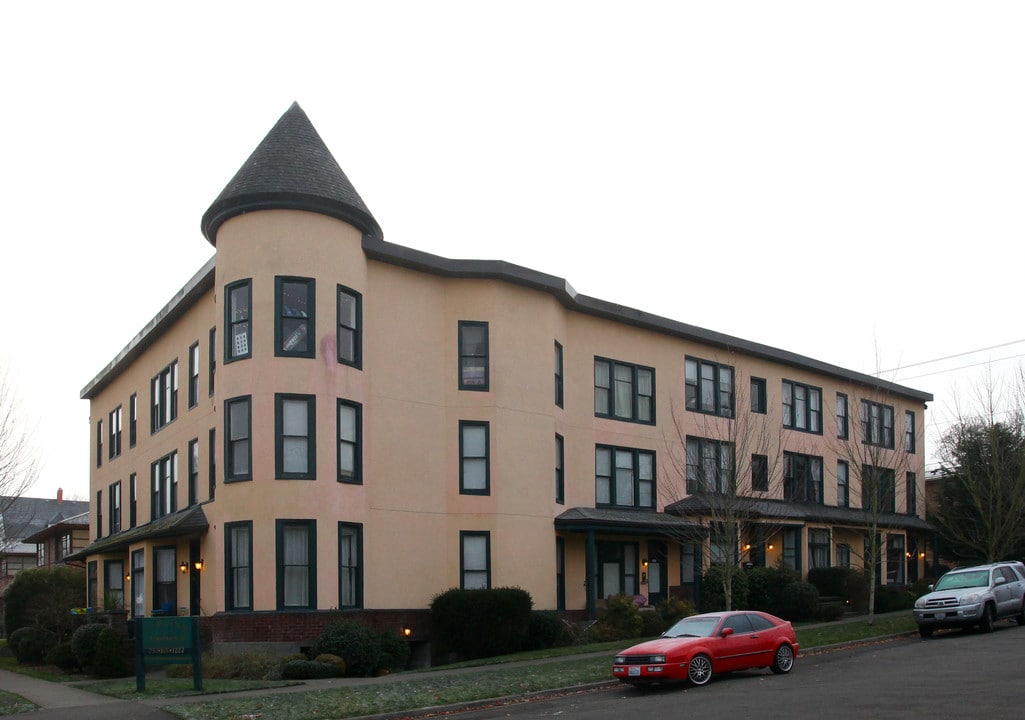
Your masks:
M748 488L767 505L745 561L857 564L843 427L909 448L878 527L889 582L921 567L928 393L386 242L297 105L202 232L214 256L82 391L92 605L294 646L334 609L424 640L452 587L577 615L686 593L715 547L669 461L726 462L706 421L734 414L766 419L786 468L778 491ZM766 512L782 521L758 535Z

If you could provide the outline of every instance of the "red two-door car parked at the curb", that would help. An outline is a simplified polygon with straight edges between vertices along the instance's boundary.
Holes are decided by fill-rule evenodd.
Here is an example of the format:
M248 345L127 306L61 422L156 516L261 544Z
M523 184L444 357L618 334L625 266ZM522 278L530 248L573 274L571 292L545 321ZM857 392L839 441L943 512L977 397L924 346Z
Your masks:
M755 610L707 612L617 653L612 675L636 685L680 680L704 685L715 673L734 670L789 673L796 656L797 637L787 621Z

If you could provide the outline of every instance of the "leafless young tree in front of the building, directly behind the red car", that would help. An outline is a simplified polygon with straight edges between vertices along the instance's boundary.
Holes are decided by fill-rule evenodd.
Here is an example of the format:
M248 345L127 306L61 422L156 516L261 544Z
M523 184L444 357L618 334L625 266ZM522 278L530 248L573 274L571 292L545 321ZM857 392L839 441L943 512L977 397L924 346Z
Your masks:
M667 526L665 531L681 543L709 539L703 569L722 565L727 609L741 571L741 549L749 552L781 525L771 504L761 501L783 496L782 425L768 412L764 395L755 395L752 408L750 378L734 368L720 365L716 369L729 372L728 379L721 375L711 391L691 389L683 407L672 404L663 463L668 482L660 486L666 506L675 504L678 512L705 520L700 531L687 526ZM708 392L716 397L710 399Z

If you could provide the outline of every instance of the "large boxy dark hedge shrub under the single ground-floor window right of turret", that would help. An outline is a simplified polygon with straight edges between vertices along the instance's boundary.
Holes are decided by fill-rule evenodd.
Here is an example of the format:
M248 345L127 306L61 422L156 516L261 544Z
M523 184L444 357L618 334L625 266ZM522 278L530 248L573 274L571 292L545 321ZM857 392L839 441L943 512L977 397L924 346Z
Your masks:
M453 588L430 602L433 637L444 656L473 659L523 649L533 601L520 588Z

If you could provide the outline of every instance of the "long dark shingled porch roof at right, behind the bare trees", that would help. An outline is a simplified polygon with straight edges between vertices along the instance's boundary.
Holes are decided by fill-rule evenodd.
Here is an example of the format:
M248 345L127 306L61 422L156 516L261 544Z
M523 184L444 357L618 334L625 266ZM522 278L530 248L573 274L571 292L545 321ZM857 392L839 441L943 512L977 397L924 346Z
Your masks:
M707 517L713 512L712 504L703 495L691 495L666 506L666 512L681 517ZM758 520L774 520L796 522L821 522L828 525L864 528L869 522L865 511L857 508L836 508L828 505L812 503L792 503L789 501L764 499L758 497L738 498L738 512L745 517ZM915 515L900 515L898 513L883 513L878 517L878 526L889 529L919 530L935 532L932 523Z

